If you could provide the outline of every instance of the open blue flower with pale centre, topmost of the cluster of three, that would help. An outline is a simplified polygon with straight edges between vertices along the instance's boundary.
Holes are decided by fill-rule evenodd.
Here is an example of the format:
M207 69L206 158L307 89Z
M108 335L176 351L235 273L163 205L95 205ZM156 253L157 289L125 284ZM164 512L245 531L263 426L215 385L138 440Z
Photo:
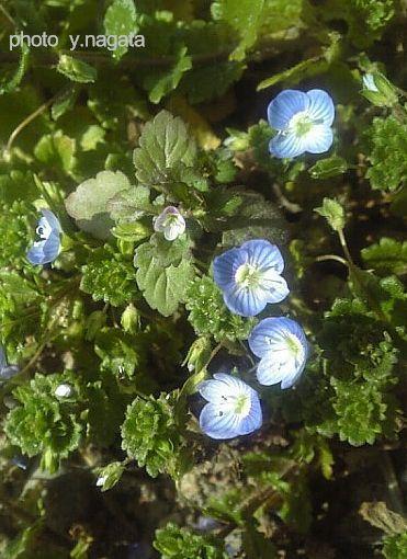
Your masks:
M283 269L283 256L275 244L259 239L217 256L214 280L231 312L253 317L268 303L280 303L289 295L287 284L280 275Z

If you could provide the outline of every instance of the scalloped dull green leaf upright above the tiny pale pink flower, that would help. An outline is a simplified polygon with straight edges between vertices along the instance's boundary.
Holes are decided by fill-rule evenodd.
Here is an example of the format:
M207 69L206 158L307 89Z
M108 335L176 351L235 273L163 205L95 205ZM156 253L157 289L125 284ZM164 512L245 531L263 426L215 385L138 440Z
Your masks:
M136 176L142 184L152 186L169 182L177 164L191 167L196 155L195 141L185 124L168 111L161 111L146 124L139 146L134 150Z

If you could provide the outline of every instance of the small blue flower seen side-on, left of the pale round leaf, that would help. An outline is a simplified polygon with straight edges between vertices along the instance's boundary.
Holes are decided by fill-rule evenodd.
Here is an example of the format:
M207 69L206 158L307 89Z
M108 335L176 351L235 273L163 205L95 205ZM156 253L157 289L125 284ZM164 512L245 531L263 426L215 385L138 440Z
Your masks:
M59 254L60 233L63 232L58 218L49 209L42 209L36 233L39 241L35 241L29 250L26 258L32 264L48 264Z

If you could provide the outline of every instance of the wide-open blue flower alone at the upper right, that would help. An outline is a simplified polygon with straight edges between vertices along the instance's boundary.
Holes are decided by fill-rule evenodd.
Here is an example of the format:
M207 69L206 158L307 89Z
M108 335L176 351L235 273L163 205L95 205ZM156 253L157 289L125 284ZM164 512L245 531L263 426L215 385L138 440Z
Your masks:
M301 156L305 151L324 153L332 145L335 107L326 91L282 91L269 104L268 117L270 126L278 130L269 149L280 159Z

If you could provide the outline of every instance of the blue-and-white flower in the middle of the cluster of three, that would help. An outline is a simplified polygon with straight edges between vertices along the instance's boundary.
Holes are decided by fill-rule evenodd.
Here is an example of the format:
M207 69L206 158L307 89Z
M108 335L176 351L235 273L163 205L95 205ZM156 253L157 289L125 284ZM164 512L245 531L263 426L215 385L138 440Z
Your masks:
M304 370L309 349L301 326L284 317L265 318L251 331L250 350L260 357L257 378L261 385L290 388Z

